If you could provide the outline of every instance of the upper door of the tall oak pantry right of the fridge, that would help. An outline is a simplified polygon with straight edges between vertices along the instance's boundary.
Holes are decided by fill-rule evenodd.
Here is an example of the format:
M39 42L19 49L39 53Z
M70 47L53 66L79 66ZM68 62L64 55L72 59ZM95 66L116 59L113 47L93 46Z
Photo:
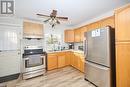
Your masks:
M115 12L116 41L130 41L130 5Z

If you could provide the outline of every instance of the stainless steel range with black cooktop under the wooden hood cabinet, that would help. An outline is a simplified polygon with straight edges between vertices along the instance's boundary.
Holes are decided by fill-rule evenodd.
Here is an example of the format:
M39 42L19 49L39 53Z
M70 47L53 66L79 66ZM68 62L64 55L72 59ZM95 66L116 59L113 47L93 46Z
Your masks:
M46 72L46 53L40 46L27 46L23 54L23 79L29 79Z

